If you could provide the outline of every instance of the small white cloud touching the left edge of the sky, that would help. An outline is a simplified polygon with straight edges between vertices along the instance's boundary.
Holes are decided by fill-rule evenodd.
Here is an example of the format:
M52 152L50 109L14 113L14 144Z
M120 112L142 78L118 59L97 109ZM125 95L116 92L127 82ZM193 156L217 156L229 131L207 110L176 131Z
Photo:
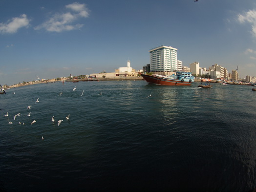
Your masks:
M7 23L0 23L0 33L16 33L21 27L28 27L29 21L25 14L22 14L20 17L12 18L12 20L7 21Z

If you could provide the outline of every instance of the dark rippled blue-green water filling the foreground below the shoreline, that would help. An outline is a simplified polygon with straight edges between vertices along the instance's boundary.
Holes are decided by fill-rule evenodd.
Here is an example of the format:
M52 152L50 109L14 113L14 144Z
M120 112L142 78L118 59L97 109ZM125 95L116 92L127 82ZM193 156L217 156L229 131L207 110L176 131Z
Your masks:
M250 192L256 187L252 86L103 81L6 92L0 95L2 191Z

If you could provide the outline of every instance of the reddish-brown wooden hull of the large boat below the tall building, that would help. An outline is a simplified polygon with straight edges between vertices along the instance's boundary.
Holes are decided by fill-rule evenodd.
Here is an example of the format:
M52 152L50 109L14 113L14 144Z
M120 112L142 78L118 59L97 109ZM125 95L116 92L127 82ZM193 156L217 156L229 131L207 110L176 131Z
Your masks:
M141 74L143 79L149 84L171 85L171 86L190 86L191 82L185 82L178 79L168 79L152 75Z

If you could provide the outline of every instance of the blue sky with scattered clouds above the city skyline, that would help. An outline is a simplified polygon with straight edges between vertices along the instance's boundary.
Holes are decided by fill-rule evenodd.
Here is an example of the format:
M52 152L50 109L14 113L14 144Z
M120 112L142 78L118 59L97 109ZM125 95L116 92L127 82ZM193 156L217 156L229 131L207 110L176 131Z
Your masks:
M256 1L0 0L1 85L142 69L160 45L256 76Z

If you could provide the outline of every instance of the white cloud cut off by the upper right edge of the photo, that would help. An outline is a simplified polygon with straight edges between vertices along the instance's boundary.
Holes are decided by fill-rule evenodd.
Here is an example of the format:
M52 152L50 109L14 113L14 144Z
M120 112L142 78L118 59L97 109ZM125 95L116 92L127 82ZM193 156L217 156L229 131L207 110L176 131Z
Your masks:
M256 37L256 10L249 10L245 14L238 14L238 21L240 23L249 22L252 25L252 34Z

